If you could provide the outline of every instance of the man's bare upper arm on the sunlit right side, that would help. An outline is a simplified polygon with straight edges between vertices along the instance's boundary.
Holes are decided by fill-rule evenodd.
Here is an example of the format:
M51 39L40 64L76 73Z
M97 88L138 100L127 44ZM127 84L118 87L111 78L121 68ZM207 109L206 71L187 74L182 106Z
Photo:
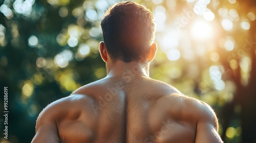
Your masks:
M223 142L218 133L218 119L209 105L203 103L199 107L196 143Z

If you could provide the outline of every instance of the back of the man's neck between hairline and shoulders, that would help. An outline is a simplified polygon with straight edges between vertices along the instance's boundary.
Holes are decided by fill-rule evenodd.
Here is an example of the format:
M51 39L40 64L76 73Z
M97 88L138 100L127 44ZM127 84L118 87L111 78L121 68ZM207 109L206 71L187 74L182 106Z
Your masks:
M107 77L122 78L129 75L131 77L149 77L149 64L142 64L137 61L129 63L116 61L114 63L109 63L106 68Z

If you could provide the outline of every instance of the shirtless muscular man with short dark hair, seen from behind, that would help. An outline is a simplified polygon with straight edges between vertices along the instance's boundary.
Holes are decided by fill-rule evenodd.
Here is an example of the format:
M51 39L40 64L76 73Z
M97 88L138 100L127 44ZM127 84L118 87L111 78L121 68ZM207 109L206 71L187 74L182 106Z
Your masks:
M47 106L32 142L222 142L211 107L148 77L157 51L150 10L115 4L101 27L107 76Z

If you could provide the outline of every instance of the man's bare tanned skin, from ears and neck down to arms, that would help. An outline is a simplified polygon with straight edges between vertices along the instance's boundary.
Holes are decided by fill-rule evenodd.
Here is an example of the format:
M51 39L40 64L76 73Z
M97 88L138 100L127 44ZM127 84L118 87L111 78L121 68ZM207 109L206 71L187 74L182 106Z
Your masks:
M107 76L48 105L38 116L33 143L222 142L209 105L151 79L145 61L112 62L99 44Z

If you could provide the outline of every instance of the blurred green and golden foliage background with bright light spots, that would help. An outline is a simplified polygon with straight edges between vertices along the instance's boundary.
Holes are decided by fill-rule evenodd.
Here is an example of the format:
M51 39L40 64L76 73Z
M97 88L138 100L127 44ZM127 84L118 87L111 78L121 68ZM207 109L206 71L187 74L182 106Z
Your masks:
M1 1L0 85L9 89L9 136L3 138L0 122L0 142L30 142L44 107L105 76L100 19L116 2ZM255 142L255 1L134 2L156 16L151 77L214 108L225 142Z

